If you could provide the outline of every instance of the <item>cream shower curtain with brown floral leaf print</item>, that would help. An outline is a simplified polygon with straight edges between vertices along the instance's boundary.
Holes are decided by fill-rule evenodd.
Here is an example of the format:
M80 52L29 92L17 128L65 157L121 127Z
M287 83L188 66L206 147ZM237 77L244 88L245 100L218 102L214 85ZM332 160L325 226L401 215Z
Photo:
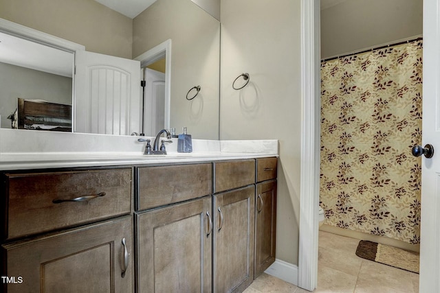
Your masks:
M422 40L321 63L326 224L420 242Z

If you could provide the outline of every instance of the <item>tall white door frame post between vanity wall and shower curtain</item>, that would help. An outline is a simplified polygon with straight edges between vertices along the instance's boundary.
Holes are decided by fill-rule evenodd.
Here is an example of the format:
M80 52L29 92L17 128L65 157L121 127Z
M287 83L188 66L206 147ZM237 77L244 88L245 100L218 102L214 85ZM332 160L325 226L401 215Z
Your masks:
M318 283L320 0L301 0L301 178L298 286Z

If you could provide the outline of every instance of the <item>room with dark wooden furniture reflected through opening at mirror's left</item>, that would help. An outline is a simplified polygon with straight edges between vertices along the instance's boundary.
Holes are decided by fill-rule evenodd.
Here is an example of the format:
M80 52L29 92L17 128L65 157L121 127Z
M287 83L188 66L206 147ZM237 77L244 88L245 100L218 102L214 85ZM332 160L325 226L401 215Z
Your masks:
M0 127L72 131L72 51L0 32Z

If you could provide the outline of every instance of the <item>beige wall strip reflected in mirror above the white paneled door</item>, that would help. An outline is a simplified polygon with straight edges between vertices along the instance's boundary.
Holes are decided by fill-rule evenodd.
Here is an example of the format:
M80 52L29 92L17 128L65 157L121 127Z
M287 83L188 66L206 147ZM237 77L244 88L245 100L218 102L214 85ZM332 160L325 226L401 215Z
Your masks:
M131 59L133 20L93 0L0 0L0 18Z

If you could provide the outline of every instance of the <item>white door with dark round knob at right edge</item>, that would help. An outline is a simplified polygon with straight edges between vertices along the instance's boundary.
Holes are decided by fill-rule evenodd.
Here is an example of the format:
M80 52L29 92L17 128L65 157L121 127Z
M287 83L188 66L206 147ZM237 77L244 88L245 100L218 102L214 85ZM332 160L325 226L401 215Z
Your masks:
M440 292L440 6L423 0L423 121L421 145L420 292Z

